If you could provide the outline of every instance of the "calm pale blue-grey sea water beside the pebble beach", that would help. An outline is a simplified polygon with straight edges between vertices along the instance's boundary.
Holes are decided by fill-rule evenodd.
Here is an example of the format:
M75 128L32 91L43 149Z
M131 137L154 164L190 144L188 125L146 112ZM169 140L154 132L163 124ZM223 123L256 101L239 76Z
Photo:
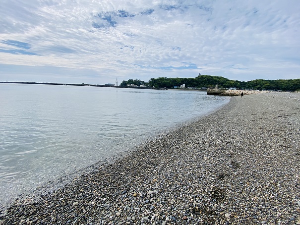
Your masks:
M0 84L0 203L228 101L201 91Z

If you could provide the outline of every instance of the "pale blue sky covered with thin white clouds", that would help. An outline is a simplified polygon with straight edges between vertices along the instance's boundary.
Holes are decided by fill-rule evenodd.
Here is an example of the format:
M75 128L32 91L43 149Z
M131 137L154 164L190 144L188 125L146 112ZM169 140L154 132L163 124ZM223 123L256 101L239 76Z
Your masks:
M0 81L300 78L300 0L1 0Z

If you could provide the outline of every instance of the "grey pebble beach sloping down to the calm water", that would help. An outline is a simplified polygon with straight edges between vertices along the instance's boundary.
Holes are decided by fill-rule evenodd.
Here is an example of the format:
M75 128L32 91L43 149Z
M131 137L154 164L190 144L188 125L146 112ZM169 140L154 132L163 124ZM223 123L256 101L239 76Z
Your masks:
M187 112L188 113L188 112ZM300 93L221 109L22 196L0 225L300 225Z

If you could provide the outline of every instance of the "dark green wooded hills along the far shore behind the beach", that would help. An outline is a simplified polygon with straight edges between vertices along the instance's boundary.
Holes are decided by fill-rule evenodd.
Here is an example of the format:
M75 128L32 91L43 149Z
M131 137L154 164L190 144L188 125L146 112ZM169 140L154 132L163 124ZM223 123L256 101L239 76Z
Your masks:
M168 78L159 77L151 78L148 82L141 80L129 79L123 81L121 86L127 84L136 84L137 86L143 84L153 88L168 88L172 89L174 86L185 84L185 87L195 88L214 88L218 84L219 88L238 88L238 89L253 89L253 90L282 90L282 91L300 91L300 79L290 80L251 80L238 81L229 80L221 76L198 75L195 78Z

